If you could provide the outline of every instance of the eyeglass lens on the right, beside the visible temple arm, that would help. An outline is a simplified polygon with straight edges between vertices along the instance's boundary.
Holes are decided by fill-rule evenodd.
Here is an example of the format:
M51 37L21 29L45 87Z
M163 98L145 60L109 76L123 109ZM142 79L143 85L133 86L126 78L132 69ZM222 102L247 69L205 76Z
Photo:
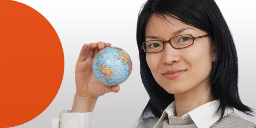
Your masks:
M171 40L173 47L183 48L193 43L193 38L190 35L180 35Z

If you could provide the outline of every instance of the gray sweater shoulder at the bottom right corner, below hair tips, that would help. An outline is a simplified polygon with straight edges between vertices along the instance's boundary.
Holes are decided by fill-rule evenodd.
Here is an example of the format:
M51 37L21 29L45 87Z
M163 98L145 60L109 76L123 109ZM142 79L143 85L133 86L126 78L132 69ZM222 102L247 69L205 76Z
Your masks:
M256 128L256 124L232 112L215 122L210 128Z

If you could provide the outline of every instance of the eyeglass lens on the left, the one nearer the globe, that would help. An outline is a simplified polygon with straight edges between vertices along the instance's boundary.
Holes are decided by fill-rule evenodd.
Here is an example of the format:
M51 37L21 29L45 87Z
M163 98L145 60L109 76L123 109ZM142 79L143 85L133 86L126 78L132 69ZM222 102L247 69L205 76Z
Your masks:
M163 42L162 41L147 41L143 44L143 48L146 52L160 52L163 50Z

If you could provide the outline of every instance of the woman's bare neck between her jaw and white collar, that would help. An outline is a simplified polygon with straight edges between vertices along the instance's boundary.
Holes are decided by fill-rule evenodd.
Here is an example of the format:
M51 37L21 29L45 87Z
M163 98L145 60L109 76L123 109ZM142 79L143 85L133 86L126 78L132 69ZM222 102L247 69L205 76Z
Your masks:
M188 92L174 94L176 116L181 117L189 111L213 101L211 87L195 87Z

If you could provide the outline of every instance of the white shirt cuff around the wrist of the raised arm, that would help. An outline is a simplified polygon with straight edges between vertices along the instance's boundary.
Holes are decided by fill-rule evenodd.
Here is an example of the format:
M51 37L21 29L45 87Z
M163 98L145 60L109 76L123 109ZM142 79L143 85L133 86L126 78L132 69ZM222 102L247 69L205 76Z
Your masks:
M62 111L58 117L51 117L52 128L90 128L93 112L70 113L70 110Z

